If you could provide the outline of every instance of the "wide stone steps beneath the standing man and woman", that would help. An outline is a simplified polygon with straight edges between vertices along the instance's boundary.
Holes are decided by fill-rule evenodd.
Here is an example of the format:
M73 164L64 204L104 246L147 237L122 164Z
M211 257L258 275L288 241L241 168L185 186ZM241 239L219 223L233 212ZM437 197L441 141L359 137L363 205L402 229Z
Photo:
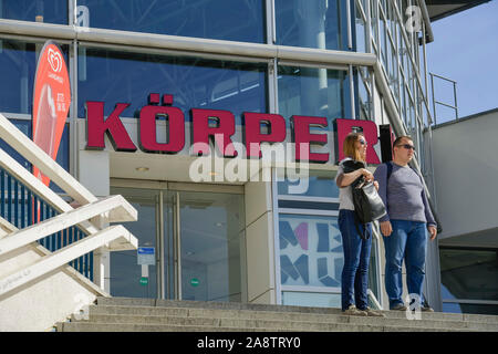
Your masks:
M498 331L498 316L384 311L386 317L341 314L340 309L234 302L97 298L58 332L475 332Z

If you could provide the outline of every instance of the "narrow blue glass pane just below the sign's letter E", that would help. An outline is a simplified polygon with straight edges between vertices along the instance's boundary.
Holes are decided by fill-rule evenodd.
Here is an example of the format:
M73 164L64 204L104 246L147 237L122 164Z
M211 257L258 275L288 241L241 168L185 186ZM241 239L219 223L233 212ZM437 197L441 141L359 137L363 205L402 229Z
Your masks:
M304 188L305 192L299 194L299 196L307 197L326 197L339 198L339 188L334 181L336 171L334 170L312 170L310 171L307 180L297 180L292 176L282 176L283 180L279 180L278 188L279 195L295 195L292 187L297 187L299 184L305 184L308 188Z

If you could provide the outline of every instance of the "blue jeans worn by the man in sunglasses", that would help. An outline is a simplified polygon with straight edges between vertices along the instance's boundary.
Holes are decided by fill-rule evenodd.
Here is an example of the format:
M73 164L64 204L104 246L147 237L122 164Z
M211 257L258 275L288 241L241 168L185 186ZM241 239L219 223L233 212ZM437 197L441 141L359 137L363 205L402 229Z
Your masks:
M385 290L390 309L403 304L402 264L405 259L406 284L409 294L417 294L422 302L427 252L425 222L391 220L393 233L384 238Z

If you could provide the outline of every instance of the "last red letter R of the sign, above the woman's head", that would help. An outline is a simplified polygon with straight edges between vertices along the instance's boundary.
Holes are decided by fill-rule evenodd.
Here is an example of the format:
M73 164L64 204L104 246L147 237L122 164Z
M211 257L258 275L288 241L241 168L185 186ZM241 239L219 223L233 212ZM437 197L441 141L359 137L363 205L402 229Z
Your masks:
M344 144L344 139L347 134L353 131L353 127L362 128L363 136L365 137L366 145L366 163L367 164L381 164L378 159L377 153L375 153L373 146L377 144L377 126L375 122L372 121L356 121L356 119L335 119L335 124L338 126L338 149L339 152L339 160L342 160L344 156L344 152L342 145ZM338 155L338 154L336 154Z

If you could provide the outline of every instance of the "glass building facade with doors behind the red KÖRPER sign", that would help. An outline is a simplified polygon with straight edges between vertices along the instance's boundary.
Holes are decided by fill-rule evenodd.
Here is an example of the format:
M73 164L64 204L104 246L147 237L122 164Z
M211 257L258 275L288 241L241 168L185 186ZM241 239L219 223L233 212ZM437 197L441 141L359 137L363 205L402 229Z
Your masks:
M62 154L76 177L87 158L80 131L86 103L105 102L105 116L116 103L129 103L121 117L133 124L148 95L159 93L173 95L186 123L189 110L209 108L234 113L237 127L245 112L279 114L289 126L292 115L326 117L330 136L335 118L391 124L395 134L414 137L430 186L423 134L432 123L426 23L417 18L413 29L406 14L412 6L418 2L0 0L0 112L31 118L37 55L51 39L71 77ZM141 246L155 248L157 260L142 287L136 253L113 253L111 294L339 306L343 258L334 157L310 165L308 189L299 195L289 192L292 178L272 169L262 187L270 190L267 235L258 243L249 237L261 219L250 218L251 187L123 176L113 170L121 155L110 156L107 192L137 208L139 221L126 227ZM376 231L370 280L380 302L381 239ZM271 256L263 285L253 280L253 264L264 263L255 244L268 246Z

